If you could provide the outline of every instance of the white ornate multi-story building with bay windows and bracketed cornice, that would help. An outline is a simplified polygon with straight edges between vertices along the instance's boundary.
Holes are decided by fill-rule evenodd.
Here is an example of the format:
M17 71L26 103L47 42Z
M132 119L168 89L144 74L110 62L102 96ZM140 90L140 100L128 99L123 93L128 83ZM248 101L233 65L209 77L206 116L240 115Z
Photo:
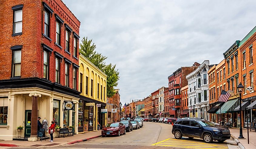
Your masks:
M209 110L208 70L210 68L209 60L204 60L196 70L186 76L189 117L209 118L207 111Z

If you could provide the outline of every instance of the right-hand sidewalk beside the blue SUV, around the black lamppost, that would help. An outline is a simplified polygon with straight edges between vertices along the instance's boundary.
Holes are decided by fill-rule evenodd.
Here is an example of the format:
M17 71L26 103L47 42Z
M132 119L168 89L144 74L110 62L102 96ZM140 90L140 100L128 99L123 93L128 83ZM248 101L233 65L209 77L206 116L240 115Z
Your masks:
M235 138L239 137L240 130L236 128L229 128L231 135L233 135ZM243 128L243 137L245 139L238 139L238 141L244 146L245 149L254 149L256 148L256 132L255 130L249 129L249 143L247 139L247 129Z

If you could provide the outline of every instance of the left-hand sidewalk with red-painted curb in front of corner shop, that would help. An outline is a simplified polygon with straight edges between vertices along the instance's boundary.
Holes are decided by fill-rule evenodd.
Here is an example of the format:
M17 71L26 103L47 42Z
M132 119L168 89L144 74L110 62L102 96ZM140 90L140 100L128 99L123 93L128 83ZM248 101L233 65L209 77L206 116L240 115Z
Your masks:
M86 132L84 134L75 134L74 136L65 136L65 138L53 138L54 142L49 142L50 139L46 141L0 141L0 146L8 146L6 148L10 148L12 145L23 146L23 147L57 147L64 146L65 144L72 144L76 142L86 141L88 139L97 138L101 136L101 131L91 131ZM2 147L1 147L2 148Z

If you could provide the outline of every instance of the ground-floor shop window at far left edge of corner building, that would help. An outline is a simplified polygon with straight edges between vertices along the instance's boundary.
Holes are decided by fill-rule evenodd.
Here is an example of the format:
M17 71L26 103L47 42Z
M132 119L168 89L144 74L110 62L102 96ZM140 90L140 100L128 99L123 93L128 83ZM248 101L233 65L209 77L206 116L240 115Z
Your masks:
M0 125L7 125L8 98L0 98Z

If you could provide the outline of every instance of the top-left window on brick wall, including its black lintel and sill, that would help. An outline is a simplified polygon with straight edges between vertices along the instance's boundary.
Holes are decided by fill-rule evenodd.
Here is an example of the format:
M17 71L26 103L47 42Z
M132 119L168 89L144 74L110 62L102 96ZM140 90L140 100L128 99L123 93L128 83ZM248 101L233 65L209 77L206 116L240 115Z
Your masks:
M12 7L13 10L13 35L22 34L22 8L23 5Z

